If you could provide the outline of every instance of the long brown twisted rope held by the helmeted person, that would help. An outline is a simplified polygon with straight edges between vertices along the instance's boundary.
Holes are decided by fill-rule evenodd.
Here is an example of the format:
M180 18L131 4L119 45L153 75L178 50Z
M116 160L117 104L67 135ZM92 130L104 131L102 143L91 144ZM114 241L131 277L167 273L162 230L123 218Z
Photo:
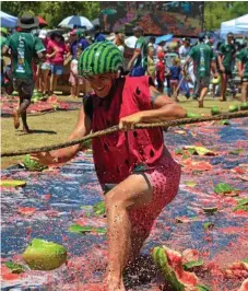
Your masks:
M213 121L213 120L222 120L222 119L232 119L232 118L241 118L241 117L248 117L248 110L238 112L238 113L227 113L227 114L221 114L216 116L205 116L205 117L197 117L197 118L184 118L184 119L176 119L176 120L169 120L169 121L161 121L161 123L154 123L154 124L137 124L134 125L134 129L139 128L154 128L154 127L176 127L180 125L191 125L191 124L198 124L198 123L204 123L204 121ZM99 130L93 133L90 133L81 139L52 144L48 147L42 147L42 148L31 148L26 150L19 150L19 151L7 151L1 153L1 156L14 156L14 155L23 155L28 153L37 153L37 152L48 152L52 150L63 149L71 146L75 146L78 143L82 143L83 141L102 137L105 135L109 135L111 132L118 131L118 126L113 126L109 128L106 128L104 130Z

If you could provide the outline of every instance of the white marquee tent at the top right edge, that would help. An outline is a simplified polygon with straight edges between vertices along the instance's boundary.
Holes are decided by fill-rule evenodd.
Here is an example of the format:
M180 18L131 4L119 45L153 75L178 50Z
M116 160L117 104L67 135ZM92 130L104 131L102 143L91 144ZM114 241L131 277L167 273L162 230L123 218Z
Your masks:
M248 14L236 20L223 22L221 25L221 36L225 37L227 33L248 36Z

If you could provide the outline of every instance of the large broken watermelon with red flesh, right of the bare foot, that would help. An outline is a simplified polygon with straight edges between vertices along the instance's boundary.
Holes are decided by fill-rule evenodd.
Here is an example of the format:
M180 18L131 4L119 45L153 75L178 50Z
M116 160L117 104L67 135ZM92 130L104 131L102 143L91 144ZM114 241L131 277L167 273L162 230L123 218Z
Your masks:
M165 277L166 287L174 291L198 290L198 277L184 270L180 253L166 246L157 246L152 256Z

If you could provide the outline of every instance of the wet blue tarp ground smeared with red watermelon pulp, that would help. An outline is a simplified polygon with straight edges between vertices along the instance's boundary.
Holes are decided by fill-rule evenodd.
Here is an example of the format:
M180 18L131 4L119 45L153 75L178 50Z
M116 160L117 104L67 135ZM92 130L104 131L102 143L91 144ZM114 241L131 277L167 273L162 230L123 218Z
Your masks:
M248 118L226 126L204 123L170 128L165 144L182 165L180 189L157 219L142 253L150 254L163 244L179 252L197 249L204 260L197 271L202 283L213 291L238 290L245 278L228 279L224 270L248 258L248 212L234 211L238 199L248 197ZM192 144L205 147L214 155L179 151ZM62 244L69 252L68 264L57 270L3 276L2 290L101 290L106 235L68 231L73 223L106 226L105 218L92 211L103 199L92 155L80 153L71 163L43 173L12 166L2 171L2 178L27 182L24 188L2 188L2 264L22 261L21 254L34 237ZM237 188L236 196L215 194L219 183ZM32 214L24 214L24 207L31 207ZM217 211L209 216L204 207L217 207ZM127 280L128 290L157 290L158 286L155 277L151 282Z

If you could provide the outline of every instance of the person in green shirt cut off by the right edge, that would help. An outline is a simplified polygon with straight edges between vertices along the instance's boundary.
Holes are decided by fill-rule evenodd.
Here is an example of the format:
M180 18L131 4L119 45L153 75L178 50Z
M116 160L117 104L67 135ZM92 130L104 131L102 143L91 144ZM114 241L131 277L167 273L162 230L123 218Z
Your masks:
M243 48L238 54L237 68L241 78L241 100L248 102L248 47Z

